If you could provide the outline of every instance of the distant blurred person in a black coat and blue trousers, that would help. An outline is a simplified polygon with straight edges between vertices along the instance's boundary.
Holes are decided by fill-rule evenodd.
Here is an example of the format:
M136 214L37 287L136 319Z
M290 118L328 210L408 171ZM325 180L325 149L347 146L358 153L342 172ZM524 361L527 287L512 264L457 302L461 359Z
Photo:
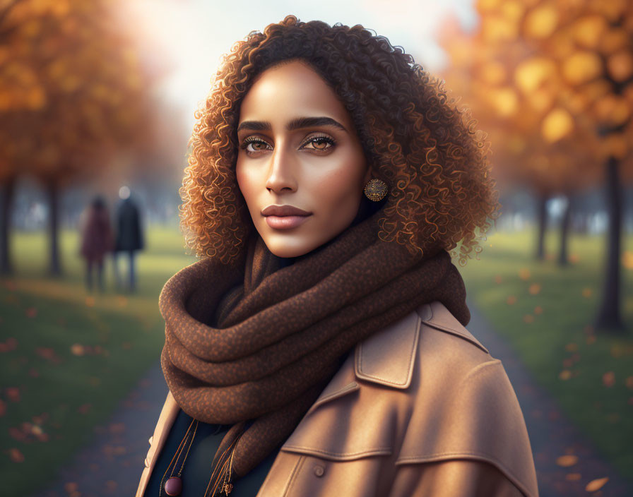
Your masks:
M122 281L118 271L117 260L120 253L126 253L129 260L128 289L134 292L136 289L135 261L136 251L143 250L143 229L138 206L130 198L129 188L126 186L119 190L122 202L117 210L117 241L114 246L114 273L117 286L122 287Z

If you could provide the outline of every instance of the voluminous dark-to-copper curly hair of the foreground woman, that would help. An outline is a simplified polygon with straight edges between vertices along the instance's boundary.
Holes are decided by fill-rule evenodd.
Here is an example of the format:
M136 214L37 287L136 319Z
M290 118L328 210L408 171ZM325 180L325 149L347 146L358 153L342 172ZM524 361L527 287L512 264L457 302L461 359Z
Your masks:
M199 257L234 261L253 223L237 185L239 108L266 68L300 59L328 83L356 126L372 176L389 186L379 239L466 264L498 217L489 144L443 83L385 37L295 16L233 45L196 111L180 193L181 226ZM454 250L459 244L461 247Z

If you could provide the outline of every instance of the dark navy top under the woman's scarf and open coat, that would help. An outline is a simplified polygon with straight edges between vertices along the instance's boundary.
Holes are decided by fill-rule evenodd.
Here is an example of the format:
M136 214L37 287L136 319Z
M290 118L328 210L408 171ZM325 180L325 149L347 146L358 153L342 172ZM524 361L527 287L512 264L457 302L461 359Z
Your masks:
M170 469L167 475L165 475L165 471L172 461L172 457L174 457L174 454L178 450L178 446L182 438L184 438L184 434L187 433L187 429L192 420L192 417L180 409L169 436L167 436L165 446L160 451L160 455L158 455L158 460L150 476L150 481L143 494L144 497L158 497L159 494L160 497L169 497L165 492L164 485L172 471ZM191 427L192 431L194 426ZM202 421L198 422L196 436L193 443L191 443L189 455L187 455L187 460L182 470L182 493L180 497L204 496L204 492L211 479L211 472L213 471L213 467L211 466L213 456L215 455L215 451L218 450L225 433L230 429L230 426L231 425L208 424ZM281 445L279 445L276 450L273 450L266 459L260 462L259 465L252 469L245 477L233 479L233 490L230 493L230 497L254 497L259 491L261 484L264 483L264 479L266 479L266 475L271 469L280 448ZM187 452L186 448L185 452ZM178 461L177 468L173 473L174 476L176 476L182 465L183 457L184 455L180 457ZM164 480L163 477L165 477ZM211 492L211 488L209 492ZM216 495L218 495L217 491Z

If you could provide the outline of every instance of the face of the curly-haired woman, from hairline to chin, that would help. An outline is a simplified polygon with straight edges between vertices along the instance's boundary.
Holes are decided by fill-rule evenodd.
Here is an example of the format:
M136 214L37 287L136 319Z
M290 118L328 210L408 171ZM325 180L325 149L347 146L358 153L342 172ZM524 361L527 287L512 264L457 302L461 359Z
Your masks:
M237 183L276 256L302 256L354 220L371 171L350 115L312 68L291 61L261 73L237 137Z

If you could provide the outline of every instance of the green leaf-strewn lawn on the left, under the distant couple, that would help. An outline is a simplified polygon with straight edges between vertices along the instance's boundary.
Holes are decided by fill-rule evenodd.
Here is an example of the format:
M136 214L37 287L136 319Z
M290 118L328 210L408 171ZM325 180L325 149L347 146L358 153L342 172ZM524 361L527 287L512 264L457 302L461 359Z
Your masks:
M88 294L76 233L61 234L60 279L46 276L44 234L14 234L16 276L0 280L0 480L11 495L45 486L158 361L158 294L194 258L175 227L147 241L136 293L114 291L108 260L105 293Z

